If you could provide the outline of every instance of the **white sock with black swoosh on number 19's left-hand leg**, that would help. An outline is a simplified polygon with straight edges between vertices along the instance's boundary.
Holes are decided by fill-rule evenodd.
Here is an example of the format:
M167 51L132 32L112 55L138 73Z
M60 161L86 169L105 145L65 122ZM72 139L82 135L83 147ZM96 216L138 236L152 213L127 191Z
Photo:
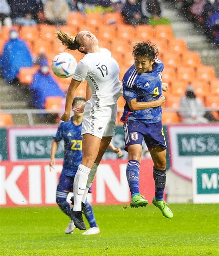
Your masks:
M88 168L82 164L79 165L77 173L74 177L74 206L73 211L81 211L82 197L85 192L88 174L91 168Z

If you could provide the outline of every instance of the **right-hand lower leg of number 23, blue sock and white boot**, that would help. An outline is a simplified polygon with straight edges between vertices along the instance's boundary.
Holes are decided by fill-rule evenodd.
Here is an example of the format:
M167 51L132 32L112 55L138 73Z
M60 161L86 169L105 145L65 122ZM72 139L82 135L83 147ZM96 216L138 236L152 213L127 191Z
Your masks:
M96 235L96 234L99 234L100 229L97 226L92 206L87 202L87 200L85 201L84 213L85 213L85 217L86 217L87 221L90 224L90 228L88 230L86 230L84 233L82 233L82 235Z

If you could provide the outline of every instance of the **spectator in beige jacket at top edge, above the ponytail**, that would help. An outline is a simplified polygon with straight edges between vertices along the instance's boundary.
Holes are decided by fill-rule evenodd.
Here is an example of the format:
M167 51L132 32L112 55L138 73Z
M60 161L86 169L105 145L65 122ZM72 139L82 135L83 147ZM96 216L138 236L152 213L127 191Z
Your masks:
M50 25L66 25L69 12L66 0L48 0L44 6L46 23Z

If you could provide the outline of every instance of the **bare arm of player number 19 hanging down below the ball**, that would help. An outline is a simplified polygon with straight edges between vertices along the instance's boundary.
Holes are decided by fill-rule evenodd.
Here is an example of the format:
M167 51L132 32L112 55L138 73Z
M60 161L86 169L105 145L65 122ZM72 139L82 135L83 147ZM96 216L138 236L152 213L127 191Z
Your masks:
M61 120L64 121L64 122L68 122L69 119L70 119L70 113L71 113L71 109L72 109L72 102L73 102L73 99L74 99L74 93L75 93L75 90L78 88L80 83L81 83L81 81L77 81L77 80L72 78L72 81L71 81L71 83L68 87L67 95L66 95L65 112L61 116Z

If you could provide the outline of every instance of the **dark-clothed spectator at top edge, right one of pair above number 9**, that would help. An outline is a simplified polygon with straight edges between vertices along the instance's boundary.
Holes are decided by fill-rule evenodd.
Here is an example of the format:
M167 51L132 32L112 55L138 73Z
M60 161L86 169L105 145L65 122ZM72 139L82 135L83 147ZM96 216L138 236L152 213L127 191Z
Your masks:
M159 19L161 8L158 0L142 0L141 11L146 18Z

